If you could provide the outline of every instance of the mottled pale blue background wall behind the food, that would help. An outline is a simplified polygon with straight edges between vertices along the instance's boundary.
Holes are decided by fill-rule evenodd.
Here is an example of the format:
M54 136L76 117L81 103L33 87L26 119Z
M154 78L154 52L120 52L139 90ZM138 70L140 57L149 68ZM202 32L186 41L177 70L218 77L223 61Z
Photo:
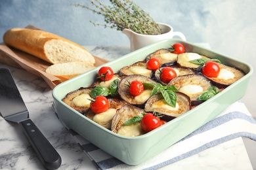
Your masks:
M102 2L108 3L106 0ZM187 41L209 42L213 50L242 59L256 67L255 0L133 2L148 12L156 22L172 25L175 31L184 33ZM129 46L129 39L121 31L90 23L92 20L104 24L102 16L74 7L73 3L89 5L86 0L0 0L0 37L12 27L34 25L81 45ZM255 79L254 74L249 92L245 95L251 110L255 110Z

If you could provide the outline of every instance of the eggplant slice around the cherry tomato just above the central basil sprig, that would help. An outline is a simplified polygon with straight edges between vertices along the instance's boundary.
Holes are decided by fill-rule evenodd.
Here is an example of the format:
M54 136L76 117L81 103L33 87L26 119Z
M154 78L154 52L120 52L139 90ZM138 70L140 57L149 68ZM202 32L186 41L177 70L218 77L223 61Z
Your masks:
M195 74L195 72L192 71L192 69L182 68L182 67L177 67L177 66L169 66L169 67L172 67L175 70L177 76ZM161 69L163 69L163 67L160 67L160 69L157 69L155 71L154 76L152 77L152 79L156 80L156 82L160 82L163 85L167 85L167 83L161 81L161 78L160 78Z

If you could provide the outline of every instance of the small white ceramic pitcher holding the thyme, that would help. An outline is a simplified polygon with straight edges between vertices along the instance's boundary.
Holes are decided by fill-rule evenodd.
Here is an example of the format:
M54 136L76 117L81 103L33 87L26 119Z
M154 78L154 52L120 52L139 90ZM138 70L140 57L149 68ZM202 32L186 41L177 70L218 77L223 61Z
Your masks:
M131 29L123 29L122 32L127 35L130 40L131 52L163 39L173 39L175 36L180 37L182 40L186 41L186 37L181 32L173 31L173 27L171 27L171 25L162 23L157 24L159 24L161 28L162 34L160 35L143 35L140 33L135 33L134 31L131 31Z

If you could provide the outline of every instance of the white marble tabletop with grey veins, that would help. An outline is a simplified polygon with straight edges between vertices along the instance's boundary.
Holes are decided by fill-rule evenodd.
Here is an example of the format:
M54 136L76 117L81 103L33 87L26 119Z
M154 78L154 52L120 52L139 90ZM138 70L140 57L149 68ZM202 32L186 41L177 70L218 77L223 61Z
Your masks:
M85 46L95 56L112 60L129 53L118 46ZM77 146L52 110L51 88L38 76L0 63L12 76L30 112L30 118L62 157L59 169L96 169ZM0 169L44 169L18 124L0 116ZM253 169L242 137L203 150L162 169Z

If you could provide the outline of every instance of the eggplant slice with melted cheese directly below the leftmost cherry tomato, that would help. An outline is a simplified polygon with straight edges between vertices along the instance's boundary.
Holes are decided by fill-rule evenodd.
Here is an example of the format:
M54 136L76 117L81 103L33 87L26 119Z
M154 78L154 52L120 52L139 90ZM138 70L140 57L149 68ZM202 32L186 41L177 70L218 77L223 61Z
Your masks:
M116 110L120 109L124 105L128 105L128 103L118 99L108 99L108 102L110 103L110 107L106 112L95 114L91 109L89 109L84 115L97 124L106 127L107 129L111 129L112 119L116 114Z

